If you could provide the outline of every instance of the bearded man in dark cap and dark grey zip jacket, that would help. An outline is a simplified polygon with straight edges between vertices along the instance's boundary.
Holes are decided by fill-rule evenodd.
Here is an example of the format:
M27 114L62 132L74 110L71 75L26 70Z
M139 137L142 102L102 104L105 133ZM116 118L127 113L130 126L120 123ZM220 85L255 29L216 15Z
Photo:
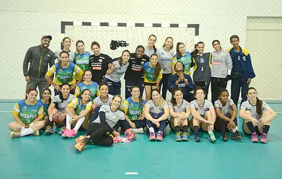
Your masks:
M51 67L55 61L54 53L48 49L51 40L51 35L43 36L39 46L28 49L23 63L24 76L27 81L26 91L30 87L36 89L38 86L40 98L42 98L42 89L46 86L50 86L45 79L45 74L48 71L48 63Z

